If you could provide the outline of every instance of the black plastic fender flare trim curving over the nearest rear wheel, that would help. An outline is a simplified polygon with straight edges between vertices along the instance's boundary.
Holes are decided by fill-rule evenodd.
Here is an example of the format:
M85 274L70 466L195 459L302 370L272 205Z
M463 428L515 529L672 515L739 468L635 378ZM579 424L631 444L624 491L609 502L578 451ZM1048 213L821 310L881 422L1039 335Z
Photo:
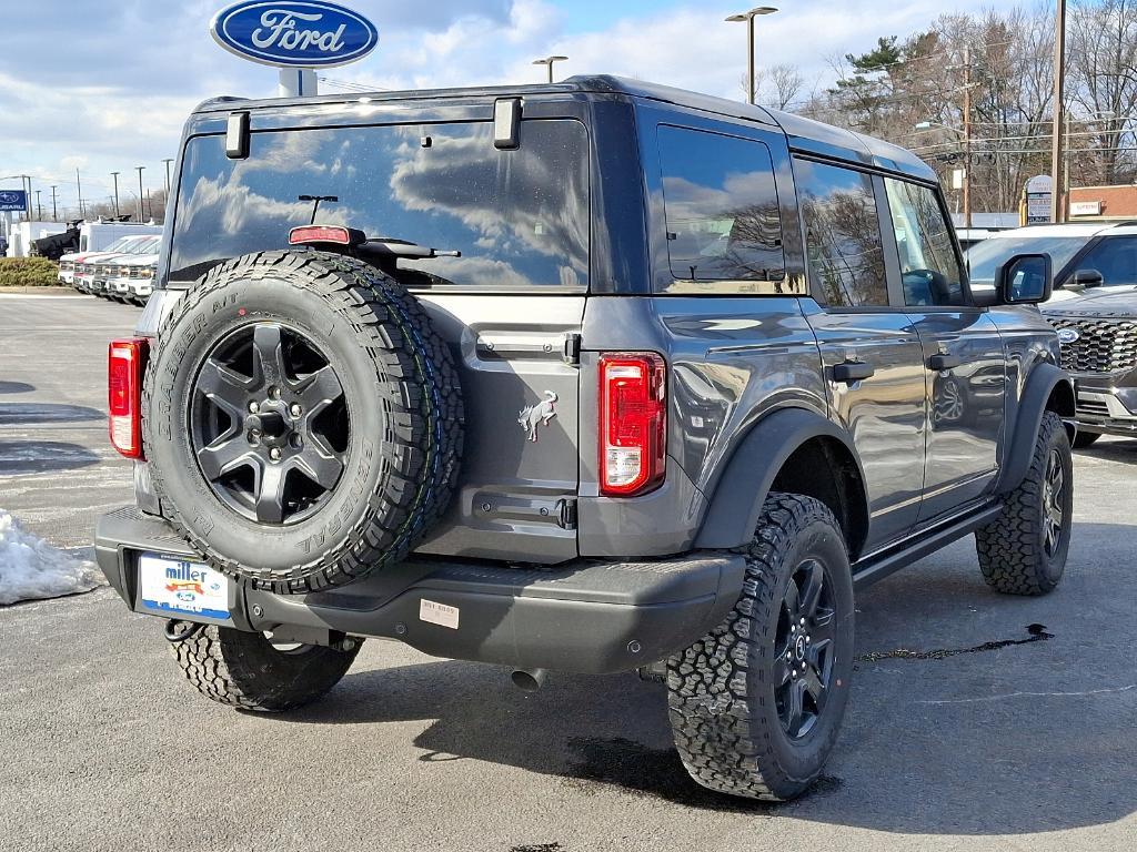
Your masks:
M864 483L861 459L846 432L814 411L778 409L758 420L725 461L695 546L738 548L750 541L778 474L790 456L815 437L839 441L856 462L857 476Z

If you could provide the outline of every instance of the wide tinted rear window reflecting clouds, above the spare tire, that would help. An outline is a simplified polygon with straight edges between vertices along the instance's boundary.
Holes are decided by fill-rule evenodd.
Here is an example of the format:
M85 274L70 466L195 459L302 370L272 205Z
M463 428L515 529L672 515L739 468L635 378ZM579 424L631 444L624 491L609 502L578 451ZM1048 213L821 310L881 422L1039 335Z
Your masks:
M229 258L288 248L289 231L349 225L371 237L460 251L400 259L437 287L588 286L588 135L573 120L522 124L521 148L493 147L488 123L257 132L248 159L223 136L185 147L169 279Z

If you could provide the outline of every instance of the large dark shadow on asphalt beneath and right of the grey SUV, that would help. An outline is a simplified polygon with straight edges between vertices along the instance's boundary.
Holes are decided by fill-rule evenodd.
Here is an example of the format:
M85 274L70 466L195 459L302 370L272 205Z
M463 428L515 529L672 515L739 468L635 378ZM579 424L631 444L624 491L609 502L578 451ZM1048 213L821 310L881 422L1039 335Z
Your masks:
M665 690L634 674L550 675L522 693L501 667L453 661L349 674L274 720L431 720L417 759L553 776L564 794L615 790L697 809L873 830L1016 835L1137 811L1137 662L1117 637L1137 598L1132 528L1076 529L1054 594L1004 598L960 542L858 596L850 711L821 782L771 805L697 786L675 754ZM1031 629L1027 629L1031 626ZM365 646L358 667L381 660ZM379 663L382 665L381 662ZM397 769L395 769L397 771Z

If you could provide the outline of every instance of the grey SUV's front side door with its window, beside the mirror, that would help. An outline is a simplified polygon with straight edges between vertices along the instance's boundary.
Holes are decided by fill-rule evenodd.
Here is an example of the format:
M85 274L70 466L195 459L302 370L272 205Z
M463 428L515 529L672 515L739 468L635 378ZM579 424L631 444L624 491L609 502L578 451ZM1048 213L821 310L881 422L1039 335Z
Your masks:
M982 494L998 473L1006 396L1003 340L973 304L939 194L883 178L905 310L923 350L928 460L921 523ZM895 245L895 249L893 249Z

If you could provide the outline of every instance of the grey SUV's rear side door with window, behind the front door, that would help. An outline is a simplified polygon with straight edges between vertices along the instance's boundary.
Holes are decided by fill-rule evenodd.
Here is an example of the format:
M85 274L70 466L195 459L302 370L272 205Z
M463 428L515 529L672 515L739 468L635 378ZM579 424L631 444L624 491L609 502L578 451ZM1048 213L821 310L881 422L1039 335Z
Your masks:
M794 175L810 289L820 303L810 325L832 414L853 436L864 469L871 549L902 537L920 511L926 421L920 335L890 292L880 178L803 158L795 158Z

